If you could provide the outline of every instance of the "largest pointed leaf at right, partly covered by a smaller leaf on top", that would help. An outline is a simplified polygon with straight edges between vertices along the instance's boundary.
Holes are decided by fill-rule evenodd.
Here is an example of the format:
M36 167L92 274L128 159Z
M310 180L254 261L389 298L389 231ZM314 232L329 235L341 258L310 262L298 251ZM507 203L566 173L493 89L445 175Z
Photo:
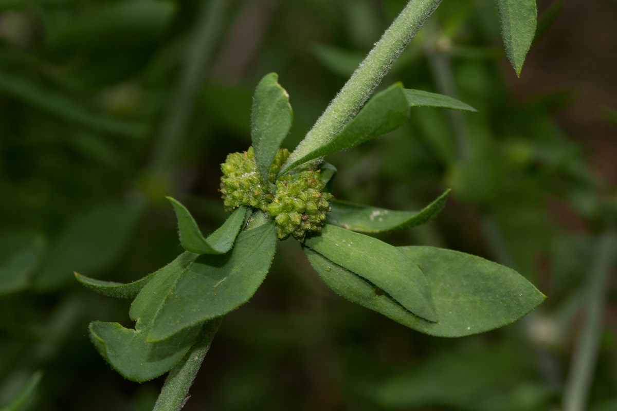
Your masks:
M399 247L421 267L431 286L439 322L411 314L353 272L305 249L310 264L337 294L414 330L460 337L510 324L544 301L528 280L486 259L428 246Z

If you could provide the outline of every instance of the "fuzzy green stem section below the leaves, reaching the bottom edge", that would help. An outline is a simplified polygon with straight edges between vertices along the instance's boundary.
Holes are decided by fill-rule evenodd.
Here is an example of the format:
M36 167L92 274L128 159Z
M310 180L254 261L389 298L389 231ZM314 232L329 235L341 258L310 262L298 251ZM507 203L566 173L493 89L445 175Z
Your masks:
M222 318L218 318L204 324L191 351L170 370L152 411L178 411L184 407L188 399L189 388L197 376L205 354L210 349L212 338L217 333L221 320Z

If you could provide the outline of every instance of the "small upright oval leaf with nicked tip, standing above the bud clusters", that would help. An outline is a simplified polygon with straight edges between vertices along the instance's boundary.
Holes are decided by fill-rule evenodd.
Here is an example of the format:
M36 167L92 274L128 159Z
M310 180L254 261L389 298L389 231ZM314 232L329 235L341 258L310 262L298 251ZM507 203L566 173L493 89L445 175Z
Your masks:
M257 169L265 187L270 187L270 165L281 147L281 142L289 133L293 116L289 94L278 84L278 75L270 73L263 76L255 89L251 139Z

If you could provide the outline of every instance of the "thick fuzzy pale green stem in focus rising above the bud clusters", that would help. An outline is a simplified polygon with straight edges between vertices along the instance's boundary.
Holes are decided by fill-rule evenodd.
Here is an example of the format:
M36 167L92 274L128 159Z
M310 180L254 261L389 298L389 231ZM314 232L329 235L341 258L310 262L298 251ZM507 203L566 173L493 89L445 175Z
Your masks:
M411 0L326 108L286 165L321 147L349 123L441 0ZM321 159L309 161L317 165ZM283 168L281 173L286 169Z

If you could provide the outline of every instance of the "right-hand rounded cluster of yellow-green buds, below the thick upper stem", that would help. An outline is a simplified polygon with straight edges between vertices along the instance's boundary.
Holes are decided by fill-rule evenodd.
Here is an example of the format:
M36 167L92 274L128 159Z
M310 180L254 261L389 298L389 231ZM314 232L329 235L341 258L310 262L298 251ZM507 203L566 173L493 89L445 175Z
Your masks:
M267 211L275 216L278 238L291 234L302 241L307 232L321 231L326 213L332 210L328 203L332 195L323 192L326 184L319 175L320 171L307 170L276 181L276 195Z

